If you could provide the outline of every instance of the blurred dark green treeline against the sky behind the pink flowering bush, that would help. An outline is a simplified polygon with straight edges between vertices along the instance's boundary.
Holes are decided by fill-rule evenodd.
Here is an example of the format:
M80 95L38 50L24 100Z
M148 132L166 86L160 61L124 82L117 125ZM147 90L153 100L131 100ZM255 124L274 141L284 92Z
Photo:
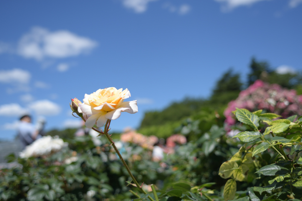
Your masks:
M267 83L277 83L288 89L295 89L297 94L302 94L302 76L300 72L278 72L268 62L257 61L255 58L251 59L249 69L250 73L247 75L246 83L243 83L240 74L235 73L233 69L226 71L216 82L208 99L187 97L181 102L173 102L162 111L146 112L138 131L145 135L156 135L165 138L172 133L179 132L179 125L188 124L188 122L194 120L204 120L204 124L201 124L203 126L199 128L201 133L209 130L212 123L222 126L224 121L223 111L227 103L236 99L241 90L259 79Z

